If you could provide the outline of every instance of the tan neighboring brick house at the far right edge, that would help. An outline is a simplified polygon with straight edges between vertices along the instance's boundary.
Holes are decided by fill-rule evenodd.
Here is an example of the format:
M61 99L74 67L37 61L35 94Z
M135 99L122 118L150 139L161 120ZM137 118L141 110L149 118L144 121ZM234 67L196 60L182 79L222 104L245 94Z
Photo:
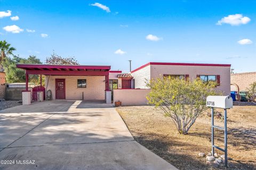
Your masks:
M250 84L256 82L256 72L231 74L231 91L246 91Z

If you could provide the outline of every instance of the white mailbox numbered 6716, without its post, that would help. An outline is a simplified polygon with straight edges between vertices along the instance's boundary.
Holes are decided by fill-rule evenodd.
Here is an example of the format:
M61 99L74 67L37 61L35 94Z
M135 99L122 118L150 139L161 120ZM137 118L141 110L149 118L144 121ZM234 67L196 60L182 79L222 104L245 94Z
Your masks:
M208 96L206 106L218 108L233 108L233 99L230 96Z

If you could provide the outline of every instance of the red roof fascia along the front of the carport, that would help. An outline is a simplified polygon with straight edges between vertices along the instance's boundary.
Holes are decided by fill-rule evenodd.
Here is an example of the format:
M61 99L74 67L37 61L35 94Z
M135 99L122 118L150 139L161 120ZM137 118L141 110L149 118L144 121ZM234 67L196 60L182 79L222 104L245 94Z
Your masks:
M17 68L25 70L33 69L100 69L110 70L107 65L49 65L49 64L17 64Z

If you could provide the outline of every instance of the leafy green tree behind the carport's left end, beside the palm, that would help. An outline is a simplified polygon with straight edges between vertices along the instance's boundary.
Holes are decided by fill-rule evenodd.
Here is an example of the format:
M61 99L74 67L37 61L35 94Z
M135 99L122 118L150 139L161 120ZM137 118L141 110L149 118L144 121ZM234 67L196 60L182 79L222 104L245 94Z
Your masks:
M28 58L22 58L19 56L5 57L2 64L6 73L6 82L25 82L26 73L25 70L18 69L16 64L42 64L42 62L36 56L32 55ZM29 75L29 81L35 84L39 84L39 75Z

